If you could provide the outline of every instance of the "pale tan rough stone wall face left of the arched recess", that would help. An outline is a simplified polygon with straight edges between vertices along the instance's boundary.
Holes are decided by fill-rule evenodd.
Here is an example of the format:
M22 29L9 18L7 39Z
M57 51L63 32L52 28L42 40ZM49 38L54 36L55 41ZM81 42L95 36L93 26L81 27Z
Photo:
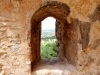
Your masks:
M30 75L30 20L41 0L0 0L0 75ZM31 16L30 16L31 15Z

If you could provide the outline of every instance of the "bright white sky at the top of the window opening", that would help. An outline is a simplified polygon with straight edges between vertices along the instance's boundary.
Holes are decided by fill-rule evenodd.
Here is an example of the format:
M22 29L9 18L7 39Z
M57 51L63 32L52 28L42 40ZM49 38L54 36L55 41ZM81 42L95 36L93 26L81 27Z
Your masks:
M56 22L55 18L47 17L42 21L42 30L55 29L55 22Z

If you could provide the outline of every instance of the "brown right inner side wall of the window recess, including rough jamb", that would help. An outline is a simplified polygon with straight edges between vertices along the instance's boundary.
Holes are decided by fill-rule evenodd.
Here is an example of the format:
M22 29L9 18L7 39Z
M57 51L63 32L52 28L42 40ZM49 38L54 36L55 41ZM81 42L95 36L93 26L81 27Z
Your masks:
M65 61L66 59L73 64L77 64L77 52L81 44L78 45L81 36L79 33L79 26L66 22L65 24L57 21L56 23L56 37L59 40L57 43L58 57ZM79 47L78 47L79 46Z

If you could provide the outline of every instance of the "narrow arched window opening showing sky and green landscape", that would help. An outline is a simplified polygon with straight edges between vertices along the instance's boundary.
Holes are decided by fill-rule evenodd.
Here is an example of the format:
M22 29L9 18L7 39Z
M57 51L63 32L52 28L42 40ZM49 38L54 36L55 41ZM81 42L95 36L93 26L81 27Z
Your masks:
M56 36L55 36L55 22L53 17L47 17L42 21L41 26L41 58L55 58L56 51Z

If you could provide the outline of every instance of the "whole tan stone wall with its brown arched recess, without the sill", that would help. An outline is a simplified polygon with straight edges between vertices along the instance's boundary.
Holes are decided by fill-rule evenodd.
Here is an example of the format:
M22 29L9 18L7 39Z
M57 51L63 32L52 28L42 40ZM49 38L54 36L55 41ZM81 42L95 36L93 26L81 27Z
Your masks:
M0 0L0 75L33 75L49 16L58 58L76 68L64 75L100 75L100 0Z

